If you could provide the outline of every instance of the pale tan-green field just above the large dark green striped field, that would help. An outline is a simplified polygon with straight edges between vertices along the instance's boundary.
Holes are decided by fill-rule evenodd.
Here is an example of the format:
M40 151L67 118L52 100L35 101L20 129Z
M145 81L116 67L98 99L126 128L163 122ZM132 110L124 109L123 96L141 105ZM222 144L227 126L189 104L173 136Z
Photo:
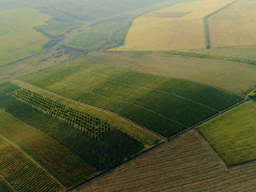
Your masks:
M86 59L147 74L206 83L238 94L247 94L256 86L256 67L246 63L137 51L100 52L89 54Z

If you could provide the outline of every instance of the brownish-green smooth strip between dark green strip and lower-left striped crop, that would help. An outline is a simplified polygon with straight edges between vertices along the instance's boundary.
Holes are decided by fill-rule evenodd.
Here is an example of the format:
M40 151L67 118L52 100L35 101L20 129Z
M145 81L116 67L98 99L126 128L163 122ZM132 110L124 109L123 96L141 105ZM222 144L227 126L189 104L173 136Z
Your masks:
M0 135L22 148L66 187L97 173L61 143L4 110L0 110Z

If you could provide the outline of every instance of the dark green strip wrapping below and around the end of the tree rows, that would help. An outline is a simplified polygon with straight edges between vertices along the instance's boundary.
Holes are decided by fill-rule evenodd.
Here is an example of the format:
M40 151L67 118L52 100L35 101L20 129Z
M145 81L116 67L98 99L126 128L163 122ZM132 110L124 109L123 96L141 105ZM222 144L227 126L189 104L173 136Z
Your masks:
M110 129L102 139L95 140L81 130L7 95L18 89L18 86L10 83L0 85L0 108L61 142L97 170L116 166L144 148L142 142L116 129Z

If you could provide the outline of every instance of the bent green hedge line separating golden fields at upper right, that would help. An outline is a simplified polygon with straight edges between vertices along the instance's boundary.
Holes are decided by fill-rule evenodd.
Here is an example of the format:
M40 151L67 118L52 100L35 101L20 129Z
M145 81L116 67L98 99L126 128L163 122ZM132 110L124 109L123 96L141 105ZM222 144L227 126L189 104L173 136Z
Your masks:
M210 18L211 16L213 16L214 14L218 14L219 12L221 12L222 10L225 10L226 8L232 6L234 3L238 2L239 0L235 0L234 2L230 2L228 4L226 4L226 6L222 6L222 8L215 10L214 12L207 14L204 18L203 18L203 23L205 26L205 36L206 36L206 49L210 49L210 30L209 30L209 22L208 22L208 18Z

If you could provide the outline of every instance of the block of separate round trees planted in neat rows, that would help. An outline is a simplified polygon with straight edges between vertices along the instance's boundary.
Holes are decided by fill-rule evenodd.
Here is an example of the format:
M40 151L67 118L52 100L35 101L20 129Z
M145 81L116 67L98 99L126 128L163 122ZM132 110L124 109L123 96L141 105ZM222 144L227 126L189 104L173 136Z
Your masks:
M19 89L10 92L10 95L21 102L32 106L34 109L42 111L60 121L65 122L74 128L82 130L91 138L100 139L104 134L110 131L110 124L95 118L90 114L86 114L79 110L64 106L58 102L54 102L42 95L34 93L30 90Z

